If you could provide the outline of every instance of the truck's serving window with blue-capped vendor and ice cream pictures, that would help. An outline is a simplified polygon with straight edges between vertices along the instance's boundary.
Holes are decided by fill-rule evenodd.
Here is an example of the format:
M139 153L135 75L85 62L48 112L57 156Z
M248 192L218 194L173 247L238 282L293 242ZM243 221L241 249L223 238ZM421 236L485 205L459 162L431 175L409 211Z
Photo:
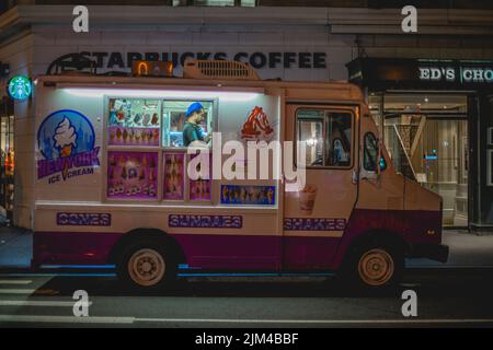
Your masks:
M214 100L108 98L106 198L210 202L210 178L186 182L185 165L186 145L211 135L214 106Z

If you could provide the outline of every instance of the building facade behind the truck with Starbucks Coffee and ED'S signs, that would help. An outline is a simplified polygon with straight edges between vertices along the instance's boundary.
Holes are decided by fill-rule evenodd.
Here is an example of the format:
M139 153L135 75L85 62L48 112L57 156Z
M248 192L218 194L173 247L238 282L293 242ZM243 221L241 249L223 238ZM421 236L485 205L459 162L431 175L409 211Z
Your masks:
M215 58L249 62L262 79L353 81L398 167L443 196L444 224L493 226L493 11L419 9L419 33L406 34L399 8L367 4L90 5L89 33L73 32L73 5L13 5L0 15L0 61L9 66L0 80L2 166L13 158L5 185L13 223L33 226L33 120L43 102L14 102L5 86L14 75L55 73L67 55L81 54L106 74L129 72L135 59L171 60L180 74L186 58Z

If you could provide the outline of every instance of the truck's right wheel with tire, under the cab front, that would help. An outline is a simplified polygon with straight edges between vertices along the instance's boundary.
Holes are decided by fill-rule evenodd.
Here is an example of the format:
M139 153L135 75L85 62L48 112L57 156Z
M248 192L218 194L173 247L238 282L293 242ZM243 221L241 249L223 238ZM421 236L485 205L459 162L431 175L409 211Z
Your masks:
M355 247L340 269L345 288L377 291L394 288L402 279L404 254L391 244L366 244Z

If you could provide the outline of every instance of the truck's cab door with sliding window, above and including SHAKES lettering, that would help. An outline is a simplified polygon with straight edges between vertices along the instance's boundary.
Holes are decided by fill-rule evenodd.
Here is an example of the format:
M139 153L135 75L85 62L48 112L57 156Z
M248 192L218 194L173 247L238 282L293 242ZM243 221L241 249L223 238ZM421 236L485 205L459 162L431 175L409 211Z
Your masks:
M306 186L285 191L284 269L331 266L357 198L356 112L353 106L286 106L285 139L296 152L306 142Z

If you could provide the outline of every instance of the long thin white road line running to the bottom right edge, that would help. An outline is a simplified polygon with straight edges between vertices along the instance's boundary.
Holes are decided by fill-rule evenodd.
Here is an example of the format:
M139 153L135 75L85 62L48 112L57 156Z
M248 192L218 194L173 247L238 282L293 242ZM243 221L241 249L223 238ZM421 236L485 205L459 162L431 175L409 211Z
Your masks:
M248 324L461 324L493 323L493 319L221 319L221 318L135 318L157 323L248 323Z

